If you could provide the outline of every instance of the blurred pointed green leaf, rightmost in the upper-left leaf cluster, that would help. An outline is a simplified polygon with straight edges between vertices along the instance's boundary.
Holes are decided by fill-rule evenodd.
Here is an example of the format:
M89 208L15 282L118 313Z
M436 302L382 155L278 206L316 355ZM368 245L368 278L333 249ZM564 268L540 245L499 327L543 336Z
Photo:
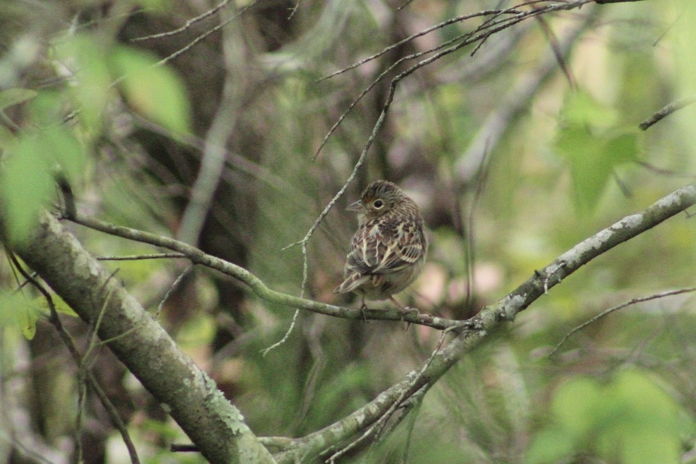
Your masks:
M143 117L175 134L190 132L191 117L186 89L171 68L156 57L132 47L119 46L109 57L114 77L128 104Z

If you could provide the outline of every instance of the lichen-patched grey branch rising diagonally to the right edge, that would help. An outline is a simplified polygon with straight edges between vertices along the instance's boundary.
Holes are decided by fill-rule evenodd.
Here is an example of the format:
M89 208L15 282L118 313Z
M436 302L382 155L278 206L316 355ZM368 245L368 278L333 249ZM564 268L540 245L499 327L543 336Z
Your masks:
M584 264L681 211L686 211L694 204L696 204L696 184L691 184L670 193L637 214L626 216L570 248L551 264L540 271L535 271L533 276L505 297L483 308L478 315L469 320L472 329L461 331L447 346L427 361L430 363L429 366L410 371L402 380L383 391L373 401L335 424L298 438L294 447L276 455L276 461L279 464L289 464L302 456L316 456L336 449L341 442L378 421L392 408L395 401L409 398L425 385L437 382L466 352L487 338L494 329L501 327L504 322L512 322L517 313L528 308L549 288L560 283Z

